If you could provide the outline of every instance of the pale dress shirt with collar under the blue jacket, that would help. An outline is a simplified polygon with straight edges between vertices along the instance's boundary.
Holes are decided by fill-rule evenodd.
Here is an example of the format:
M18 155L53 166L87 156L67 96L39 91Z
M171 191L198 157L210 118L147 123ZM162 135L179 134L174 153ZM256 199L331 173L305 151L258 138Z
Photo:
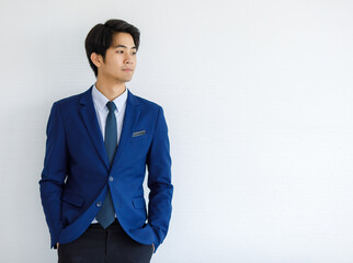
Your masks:
M92 99L93 99L93 104L96 113L96 118L98 123L100 125L103 140L105 137L105 122L106 122L106 116L109 114L109 108L106 106L106 103L110 101L106 99L105 95L100 92L95 84L93 85L92 89ZM115 103L115 118L116 118L116 130L117 130L117 145L122 135L122 129L123 129L123 123L124 123L124 116L125 116L125 108L126 108L126 100L127 100L127 88L125 88L125 91L115 98L113 101ZM116 215L115 215L116 217ZM98 222L96 219L94 218L92 222Z

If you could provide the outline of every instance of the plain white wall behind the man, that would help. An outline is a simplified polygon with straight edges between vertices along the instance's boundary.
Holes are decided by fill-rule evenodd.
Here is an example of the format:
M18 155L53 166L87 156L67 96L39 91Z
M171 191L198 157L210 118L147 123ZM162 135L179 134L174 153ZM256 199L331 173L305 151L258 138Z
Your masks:
M83 42L141 31L127 87L162 105L173 215L153 263L353 262L353 2L0 2L0 262L56 262L39 202L54 101L94 83Z

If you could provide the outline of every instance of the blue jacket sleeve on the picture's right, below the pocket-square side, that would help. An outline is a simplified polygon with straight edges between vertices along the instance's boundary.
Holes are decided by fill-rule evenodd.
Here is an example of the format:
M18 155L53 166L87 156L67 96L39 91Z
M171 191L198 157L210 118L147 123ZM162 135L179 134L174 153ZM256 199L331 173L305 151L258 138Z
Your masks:
M152 227L157 240L155 248L167 236L172 211L171 199L171 157L168 127L162 107L159 107L152 142L147 156L148 182L150 188L148 203L148 224ZM155 250L155 251L156 251Z

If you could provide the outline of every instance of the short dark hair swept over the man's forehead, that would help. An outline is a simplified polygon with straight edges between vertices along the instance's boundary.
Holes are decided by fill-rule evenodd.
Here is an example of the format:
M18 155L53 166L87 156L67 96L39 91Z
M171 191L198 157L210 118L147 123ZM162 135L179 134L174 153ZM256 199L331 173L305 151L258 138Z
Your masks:
M102 55L104 60L106 49L111 47L114 34L119 32L130 34L133 36L136 50L138 50L140 35L139 30L124 20L109 20L104 24L93 26L93 28L88 33L84 41L86 54L95 77L98 77L98 68L91 60L91 54L96 53Z

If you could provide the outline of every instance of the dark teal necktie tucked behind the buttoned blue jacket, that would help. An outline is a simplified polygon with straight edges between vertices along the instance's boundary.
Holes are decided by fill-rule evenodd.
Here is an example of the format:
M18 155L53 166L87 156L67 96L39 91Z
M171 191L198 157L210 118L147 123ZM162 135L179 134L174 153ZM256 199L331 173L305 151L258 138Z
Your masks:
M107 108L110 110L106 123L105 123L105 138L104 145L112 167L115 151L117 148L117 130L116 130L116 118L114 111L116 108L114 102L106 103ZM111 191L107 190L107 194L103 202L102 208L96 215L96 220L102 225L103 228L107 228L115 219L114 206L112 201Z

